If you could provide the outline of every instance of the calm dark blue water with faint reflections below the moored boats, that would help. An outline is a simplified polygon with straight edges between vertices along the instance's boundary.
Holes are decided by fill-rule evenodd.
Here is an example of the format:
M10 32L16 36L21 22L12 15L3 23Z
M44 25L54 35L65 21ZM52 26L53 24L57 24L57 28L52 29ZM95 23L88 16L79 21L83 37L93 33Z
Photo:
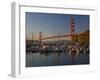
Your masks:
M32 53L26 54L26 67L89 64L89 54Z

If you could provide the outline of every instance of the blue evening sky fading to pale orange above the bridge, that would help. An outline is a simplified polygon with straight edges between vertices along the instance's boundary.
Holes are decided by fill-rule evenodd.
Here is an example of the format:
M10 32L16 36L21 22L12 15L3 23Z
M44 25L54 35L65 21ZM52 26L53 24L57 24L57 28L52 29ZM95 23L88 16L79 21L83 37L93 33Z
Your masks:
M75 22L75 33L89 30L89 15L26 12L25 16L28 38L32 33L38 38L39 32L42 32L44 37L69 34L71 16Z

